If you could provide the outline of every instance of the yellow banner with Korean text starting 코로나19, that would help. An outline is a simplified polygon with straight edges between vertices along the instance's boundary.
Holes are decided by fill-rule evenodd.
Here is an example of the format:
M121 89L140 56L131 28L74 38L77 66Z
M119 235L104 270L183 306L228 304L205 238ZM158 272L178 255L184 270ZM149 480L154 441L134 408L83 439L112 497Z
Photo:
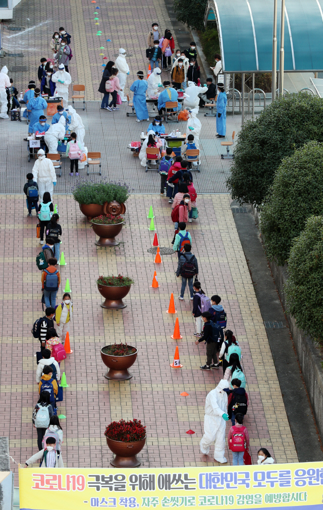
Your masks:
M323 463L156 469L19 469L22 510L323 510Z

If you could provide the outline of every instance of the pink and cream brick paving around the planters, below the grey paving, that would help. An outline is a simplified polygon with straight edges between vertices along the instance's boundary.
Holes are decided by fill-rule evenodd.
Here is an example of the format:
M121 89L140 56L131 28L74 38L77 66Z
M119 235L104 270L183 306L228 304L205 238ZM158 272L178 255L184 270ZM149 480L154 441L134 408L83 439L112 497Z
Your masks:
M36 218L26 217L21 195L1 195L0 199L4 274L0 402L8 417L0 433L9 436L11 455L24 462L37 451L31 415L37 402L34 378L38 342L30 330L41 315L40 272L35 264L39 244ZM273 452L276 462L295 462L297 453L229 196L204 195L198 200L200 218L189 227L193 250L203 289L208 295L222 296L228 327L242 346L250 396L246 425L253 462L260 446ZM111 452L104 441L104 427L120 418L139 418L147 426L147 446L141 454L144 466L205 465L199 450L204 401L221 372L199 370L205 363L205 347L194 343L192 303L187 293L183 302L177 299L176 255L164 256L163 264L155 268L154 257L147 252L153 239L146 218L151 204L159 242L170 246L173 232L168 202L157 195L132 195L127 201L127 225L120 236L123 242L107 249L95 246L94 233L72 197L58 196L55 202L61 214L62 249L67 260L61 269L62 280L65 285L69 278L74 302L74 352L61 364L69 388L64 390L58 413L67 416L62 421L67 465L109 467ZM157 290L150 288L154 269L160 286ZM117 272L135 281L125 298L127 308L102 310L95 280L99 274ZM176 316L166 313L171 292ZM171 339L177 316L183 336L178 342ZM120 384L104 379L99 353L100 347L114 341L127 341L139 349L138 361L131 369L133 378ZM176 345L183 364L180 370L170 368ZM189 397L180 396L184 390ZM186 435L189 428L195 435ZM209 465L213 465L210 456Z

